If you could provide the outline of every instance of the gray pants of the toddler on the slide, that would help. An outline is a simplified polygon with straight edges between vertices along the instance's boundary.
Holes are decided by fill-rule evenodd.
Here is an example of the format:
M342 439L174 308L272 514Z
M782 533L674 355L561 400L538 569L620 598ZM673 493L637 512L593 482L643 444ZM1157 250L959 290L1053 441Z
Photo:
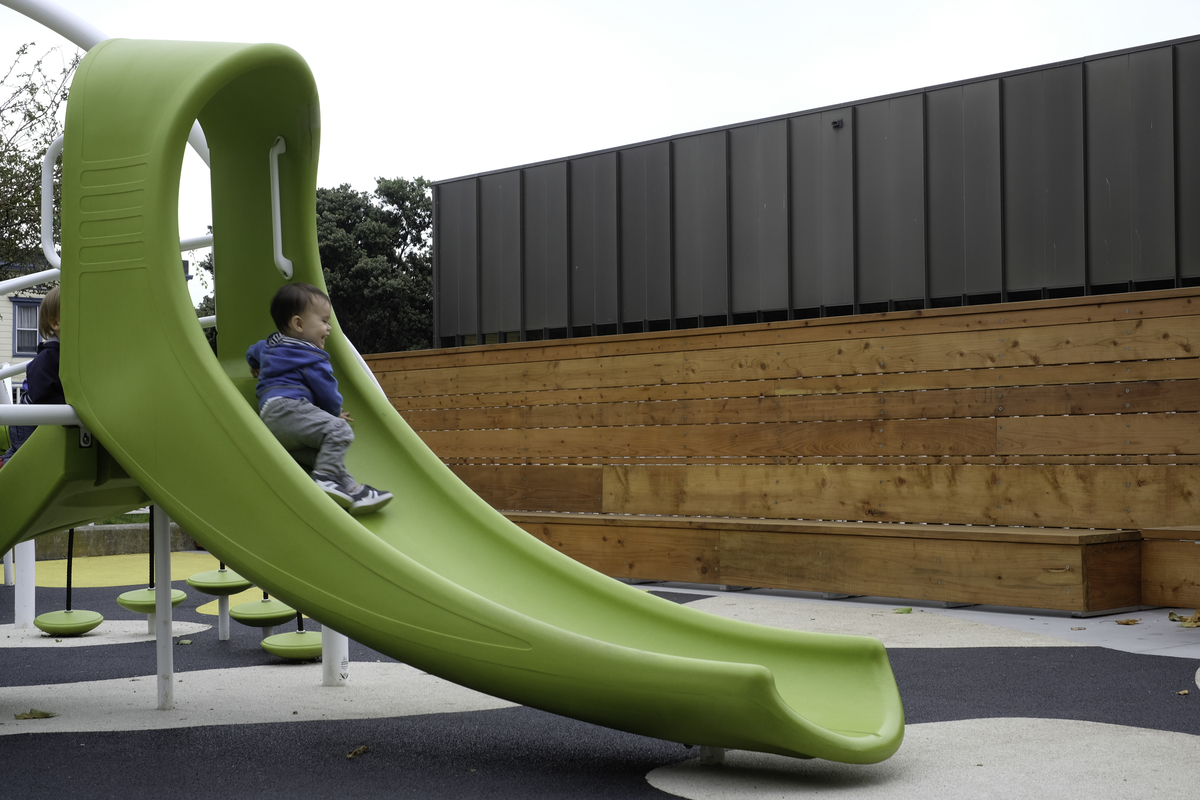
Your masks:
M346 471L346 451L354 441L354 431L346 420L293 397L270 398L259 416L300 464L358 487Z

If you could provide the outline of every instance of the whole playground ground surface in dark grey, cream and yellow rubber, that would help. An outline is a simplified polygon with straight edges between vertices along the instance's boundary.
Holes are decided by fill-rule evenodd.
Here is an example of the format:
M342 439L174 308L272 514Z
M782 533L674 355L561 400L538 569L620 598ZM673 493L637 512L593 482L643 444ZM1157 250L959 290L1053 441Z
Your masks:
M62 608L64 566L38 563L38 612ZM144 585L145 555L76 561L73 607L106 616L92 633L0 625L6 794L1183 798L1200 780L1200 628L1169 621L1171 609L1076 619L646 585L713 614L888 648L907 722L890 759L728 751L702 765L696 748L514 705L354 642L348 686L323 687L319 663L266 654L257 628L233 622L217 639L215 599L185 582L215 566L200 552L172 559L173 585L188 593L174 612L173 711L156 709L145 618L115 602ZM0 620L12 613L13 589L0 587ZM55 716L16 718L31 709Z

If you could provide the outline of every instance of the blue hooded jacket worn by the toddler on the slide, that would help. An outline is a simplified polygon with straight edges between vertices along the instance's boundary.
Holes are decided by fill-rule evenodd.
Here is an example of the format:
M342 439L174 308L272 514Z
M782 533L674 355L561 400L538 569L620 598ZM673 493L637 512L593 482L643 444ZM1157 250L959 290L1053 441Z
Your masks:
M337 416L342 413L342 396L329 354L316 344L294 339L283 333L271 333L246 350L246 361L258 369L258 408L272 397L306 399L317 408Z

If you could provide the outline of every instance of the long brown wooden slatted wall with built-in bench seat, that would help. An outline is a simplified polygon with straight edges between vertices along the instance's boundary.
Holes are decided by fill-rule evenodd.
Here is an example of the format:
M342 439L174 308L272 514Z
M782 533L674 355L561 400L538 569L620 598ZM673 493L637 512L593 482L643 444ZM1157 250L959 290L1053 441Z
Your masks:
M1154 572L1141 534L1200 521L1198 356L1176 289L367 361L608 575L1094 613L1200 603L1200 547Z

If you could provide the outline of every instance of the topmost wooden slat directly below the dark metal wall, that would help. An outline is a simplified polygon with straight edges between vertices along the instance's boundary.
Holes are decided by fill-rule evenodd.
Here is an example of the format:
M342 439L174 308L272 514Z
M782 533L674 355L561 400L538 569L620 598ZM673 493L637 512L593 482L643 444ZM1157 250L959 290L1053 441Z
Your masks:
M804 319L710 330L662 331L594 338L384 353L364 356L377 373L462 368L496 363L594 359L731 347L766 347L780 341L818 342L964 331L1002 331L1052 324L1152 319L1193 314L1200 290L1170 289L1103 297L1009 302Z

